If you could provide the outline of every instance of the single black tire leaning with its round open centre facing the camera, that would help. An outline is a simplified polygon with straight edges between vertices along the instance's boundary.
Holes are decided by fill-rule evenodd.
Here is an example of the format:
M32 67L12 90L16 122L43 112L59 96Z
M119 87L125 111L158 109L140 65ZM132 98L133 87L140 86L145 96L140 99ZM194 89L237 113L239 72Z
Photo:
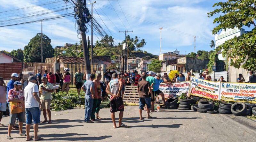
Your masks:
M249 106L248 106L249 107ZM251 108L251 107L249 107ZM235 116L242 116L247 113L246 105L242 102L236 102L231 107L231 112Z

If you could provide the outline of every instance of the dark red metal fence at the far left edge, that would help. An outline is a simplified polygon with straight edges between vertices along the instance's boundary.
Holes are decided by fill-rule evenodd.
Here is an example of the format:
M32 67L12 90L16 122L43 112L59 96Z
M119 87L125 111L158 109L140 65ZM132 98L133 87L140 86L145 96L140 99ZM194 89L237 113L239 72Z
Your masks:
M0 64L0 77L4 80L11 79L12 73L21 73L22 62Z

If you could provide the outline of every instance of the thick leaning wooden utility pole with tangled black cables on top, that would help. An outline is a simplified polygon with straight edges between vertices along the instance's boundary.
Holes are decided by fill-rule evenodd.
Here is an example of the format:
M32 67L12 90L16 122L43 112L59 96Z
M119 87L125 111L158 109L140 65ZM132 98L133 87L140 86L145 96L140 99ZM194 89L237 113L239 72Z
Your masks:
M83 8L81 8L83 6ZM83 46L83 52L84 52L84 65L85 65L85 74L86 74L86 80L89 80L90 74L91 74L91 66L90 66L90 60L89 60L89 52L88 52L88 46L86 41L86 33L85 33L85 18L83 17L84 9L86 8L86 0L77 0L76 4L76 10L75 12L79 13L79 30L81 32L82 37L82 46Z

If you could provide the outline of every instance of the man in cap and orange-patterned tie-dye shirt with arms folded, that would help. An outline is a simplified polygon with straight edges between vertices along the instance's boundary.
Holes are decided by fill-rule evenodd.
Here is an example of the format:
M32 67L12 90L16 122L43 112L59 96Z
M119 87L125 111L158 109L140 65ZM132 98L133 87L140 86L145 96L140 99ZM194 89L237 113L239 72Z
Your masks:
M12 126L14 125L17 117L20 127L19 135L26 136L26 134L22 132L22 124L25 121L24 96L23 91L21 90L23 84L20 81L15 81L13 85L14 88L8 92L8 102L10 103L10 121L8 126L7 139L12 139Z

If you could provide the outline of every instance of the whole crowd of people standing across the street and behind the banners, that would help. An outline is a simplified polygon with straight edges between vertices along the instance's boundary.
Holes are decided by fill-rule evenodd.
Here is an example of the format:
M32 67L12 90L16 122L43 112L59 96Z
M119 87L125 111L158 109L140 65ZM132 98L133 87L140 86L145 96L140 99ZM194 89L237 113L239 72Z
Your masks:
M249 81L247 83L256 83L256 76L250 71ZM108 93L110 95L110 113L111 119L113 121L113 128L125 127L126 124L122 123L122 118L124 115L124 103L123 95L125 91L125 86L137 86L139 93L139 115L140 119L142 117L143 109L147 111L147 118L152 118L150 116L151 112L156 112L154 110L154 103L159 103L158 96L161 96L163 103L165 103L164 93L159 90L160 83L172 84L175 82L183 82L190 80L191 76L194 76L190 71L185 78L183 73L180 71L179 75L175 73L172 79L169 78L167 73L164 73L162 77L161 74L156 74L153 71L142 72L138 74L138 71L132 70L132 72L121 71L119 74L112 69L112 71L107 70L103 78L106 82L101 81L101 74L96 74L93 72L90 75L90 79L86 81L84 74L81 69L74 74L74 84L76 85L77 93L80 95L81 89L85 93L85 123L93 123L95 119L101 120L99 116L100 103L102 101L103 93ZM208 71L204 71L199 74L200 79L205 79L211 81L212 78ZM63 81L63 85L61 85ZM9 108L10 121L8 125L7 139L12 139L11 131L19 130L20 136L26 136L26 140L32 140L29 135L30 125L33 122L34 126L34 140L41 140L37 136L38 124L39 123L52 123L51 121L51 111L50 104L52 100L52 93L57 90L54 85L61 85L61 90L68 94L69 85L71 81L71 75L69 69L65 69L62 75L59 70L55 74L52 72L47 73L38 70L36 75L29 76L28 82L23 79L22 74L12 73L11 79L7 85L4 83L4 78L0 77L0 122L3 116L3 112L6 111L7 106ZM217 81L217 79L214 79ZM223 76L220 77L218 81L226 82ZM237 82L245 82L242 74L239 74ZM40 121L41 110L43 111L44 120ZM119 121L116 125L115 113L119 111ZM96 116L95 116L96 115ZM47 119L48 116L48 119ZM15 126L15 122L18 122L18 126ZM23 133L22 124L26 122L26 133ZM0 126L4 124L0 123Z

